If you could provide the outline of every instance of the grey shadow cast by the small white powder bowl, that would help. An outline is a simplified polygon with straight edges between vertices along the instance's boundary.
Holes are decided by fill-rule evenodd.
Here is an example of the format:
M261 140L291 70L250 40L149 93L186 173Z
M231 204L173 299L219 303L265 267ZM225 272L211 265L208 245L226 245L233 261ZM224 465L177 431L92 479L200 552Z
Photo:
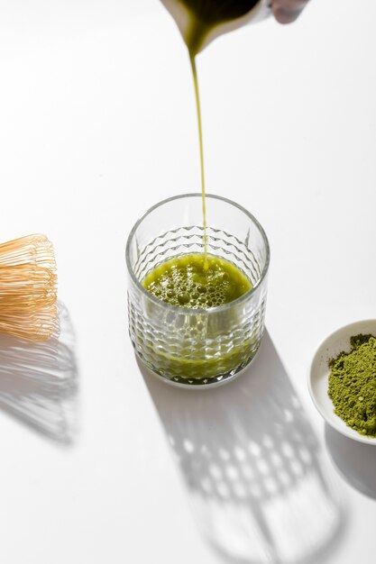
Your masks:
M376 499L376 448L353 441L326 423L326 446L330 456L350 486Z

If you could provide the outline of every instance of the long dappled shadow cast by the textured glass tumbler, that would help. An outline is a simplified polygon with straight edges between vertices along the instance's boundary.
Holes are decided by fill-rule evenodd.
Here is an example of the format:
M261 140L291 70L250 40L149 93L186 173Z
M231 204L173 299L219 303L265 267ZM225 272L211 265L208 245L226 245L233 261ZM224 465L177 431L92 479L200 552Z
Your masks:
M269 334L251 367L224 387L182 390L139 366L198 527L225 560L323 561L344 511Z

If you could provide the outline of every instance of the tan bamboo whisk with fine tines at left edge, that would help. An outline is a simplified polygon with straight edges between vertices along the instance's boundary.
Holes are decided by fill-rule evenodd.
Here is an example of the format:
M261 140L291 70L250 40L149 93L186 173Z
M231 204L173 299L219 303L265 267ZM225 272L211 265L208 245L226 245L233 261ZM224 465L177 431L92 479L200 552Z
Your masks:
M47 341L58 325L56 262L45 235L0 244L0 332Z

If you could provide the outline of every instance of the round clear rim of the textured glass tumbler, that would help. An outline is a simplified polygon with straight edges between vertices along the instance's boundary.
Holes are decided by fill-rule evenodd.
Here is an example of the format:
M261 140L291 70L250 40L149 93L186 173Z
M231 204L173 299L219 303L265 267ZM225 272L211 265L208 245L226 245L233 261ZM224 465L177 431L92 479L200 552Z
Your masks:
M247 290L245 292L245 294L242 294L242 296L235 298L233 301L227 302L226 304L222 304L222 305L215 305L213 307L202 307L202 308L197 307L195 309L193 309L192 307L184 307L184 306L180 306L180 305L168 304L167 302L164 302L163 300L160 300L158 297L151 294L151 292L148 292L148 290L142 286L140 280L134 274L134 271L133 271L133 268L132 268L132 265L131 265L131 259L130 259L131 241L133 240L134 233L136 232L138 226L143 222L143 220L148 215L150 215L154 210L161 207L162 205L169 204L170 202L173 202L174 200L179 200L179 199L182 199L182 198L189 198L189 197L202 198L202 194L201 194L201 192L191 192L191 193L187 193L187 194L181 194L179 196L170 196L169 198L165 198L164 200L161 200L157 204L151 205L151 207L148 210L146 210L146 212L136 221L136 223L134 223L133 228L128 235L128 239L126 241L126 246L125 246L126 267L128 269L128 272L129 272L131 279L132 279L133 283L135 284L135 286L139 290L141 290L141 292L144 296L146 296L148 299L151 300L151 302L153 302L156 305L160 305L162 307L163 306L168 307L169 309L176 312L177 314L179 313L179 314L191 314L192 315L192 314L204 314L204 313L207 313L207 312L213 312L213 313L223 312L227 309L230 309L234 305L238 305L238 304L241 304L242 302L246 301L249 297L252 296L252 294L254 294L256 292L256 290L261 286L262 281L266 277L266 274L267 274L268 269L269 269L270 259L271 259L271 250L270 250L270 246L269 246L269 241L268 241L268 238L266 236L266 233L265 233L261 223L254 217L254 215L252 215L250 212L248 212L248 210L246 210L245 207L243 207L243 205L236 204L236 202L233 202L233 200L230 200L229 198L226 198L224 196L216 196L215 194L206 194L205 195L206 198L221 200L222 202L225 202L226 204L234 205L234 207L236 207L238 210L243 212L243 214L247 215L249 217L249 219L252 220L252 223L254 223L256 225L257 229L261 232L262 241L265 245L266 257L265 257L265 264L264 264L262 271L261 271L261 276L258 278L258 280L257 280L257 282L254 286L252 286L249 290Z

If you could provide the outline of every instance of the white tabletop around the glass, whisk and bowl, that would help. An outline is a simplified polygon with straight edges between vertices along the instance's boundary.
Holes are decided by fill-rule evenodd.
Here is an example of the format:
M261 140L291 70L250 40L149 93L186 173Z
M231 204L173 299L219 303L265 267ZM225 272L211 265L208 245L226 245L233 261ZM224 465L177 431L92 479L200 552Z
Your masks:
M312 0L200 56L207 190L271 270L254 364L189 393L142 376L124 264L146 208L199 189L179 34L158 0L0 0L1 239L53 241L63 322L47 364L0 340L4 564L373 561L376 448L326 427L307 370L376 315L375 23Z

